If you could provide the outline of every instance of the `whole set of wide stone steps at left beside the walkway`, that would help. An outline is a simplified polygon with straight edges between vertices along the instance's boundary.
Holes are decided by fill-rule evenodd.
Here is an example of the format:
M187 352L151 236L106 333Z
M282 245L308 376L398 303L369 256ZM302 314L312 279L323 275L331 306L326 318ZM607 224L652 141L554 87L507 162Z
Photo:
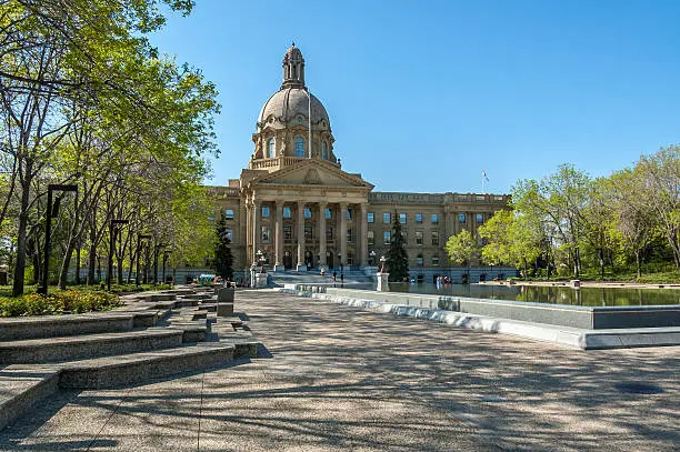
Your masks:
M218 317L211 291L127 295L102 313L0 319L0 430L59 389L123 386L257 358L247 324Z

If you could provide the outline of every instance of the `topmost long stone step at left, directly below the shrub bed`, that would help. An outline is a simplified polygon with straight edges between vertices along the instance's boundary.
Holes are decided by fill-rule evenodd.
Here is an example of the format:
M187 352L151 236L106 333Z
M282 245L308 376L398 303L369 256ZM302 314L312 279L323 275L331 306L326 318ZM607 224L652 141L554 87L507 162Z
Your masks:
M134 312L107 312L0 319L0 341L130 331L134 315Z

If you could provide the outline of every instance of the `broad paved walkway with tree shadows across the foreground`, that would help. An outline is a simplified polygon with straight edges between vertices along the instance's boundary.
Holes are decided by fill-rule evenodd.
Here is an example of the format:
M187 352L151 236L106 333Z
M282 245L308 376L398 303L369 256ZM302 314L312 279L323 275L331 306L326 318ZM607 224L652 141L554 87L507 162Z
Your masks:
M678 451L679 348L583 352L273 292L270 358L63 393L1 451ZM660 394L630 394L646 382Z

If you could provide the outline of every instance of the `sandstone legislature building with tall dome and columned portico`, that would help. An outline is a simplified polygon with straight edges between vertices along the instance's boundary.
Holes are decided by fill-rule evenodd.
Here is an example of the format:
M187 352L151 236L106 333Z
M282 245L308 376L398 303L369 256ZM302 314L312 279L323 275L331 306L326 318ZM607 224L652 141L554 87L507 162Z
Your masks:
M331 122L304 84L293 44L283 82L262 107L254 152L239 179L211 187L231 237L234 270L262 262L272 270L377 265L389 247L393 215L406 237L411 274L443 274L447 239L477 228L509 197L374 191L341 168Z

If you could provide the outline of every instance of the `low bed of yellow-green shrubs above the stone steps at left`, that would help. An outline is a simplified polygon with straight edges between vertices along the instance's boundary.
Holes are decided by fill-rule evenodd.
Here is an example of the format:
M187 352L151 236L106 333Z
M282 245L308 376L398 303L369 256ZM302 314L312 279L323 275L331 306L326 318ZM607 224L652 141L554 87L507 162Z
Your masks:
M108 311L120 305L122 302L112 293L66 290L48 297L31 293L17 298L0 298L0 317Z

